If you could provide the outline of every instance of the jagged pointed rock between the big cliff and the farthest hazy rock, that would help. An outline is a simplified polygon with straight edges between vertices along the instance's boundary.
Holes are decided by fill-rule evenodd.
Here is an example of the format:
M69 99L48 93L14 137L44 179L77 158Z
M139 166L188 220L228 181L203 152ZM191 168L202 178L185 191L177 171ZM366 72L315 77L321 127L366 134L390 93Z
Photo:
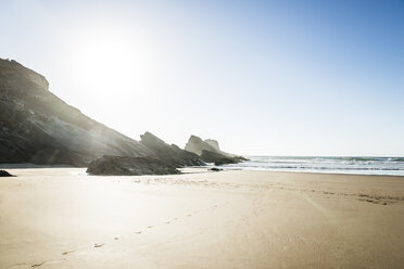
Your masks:
M175 167L201 166L205 163L194 153L181 150L175 144L167 144L151 132L140 136L140 143L148 148L154 158Z

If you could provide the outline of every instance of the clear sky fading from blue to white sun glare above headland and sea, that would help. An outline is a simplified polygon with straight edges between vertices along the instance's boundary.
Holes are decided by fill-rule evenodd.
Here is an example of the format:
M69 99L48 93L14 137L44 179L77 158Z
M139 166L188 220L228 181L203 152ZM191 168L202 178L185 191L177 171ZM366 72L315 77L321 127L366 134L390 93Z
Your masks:
M404 155L404 1L0 1L0 57L139 139Z

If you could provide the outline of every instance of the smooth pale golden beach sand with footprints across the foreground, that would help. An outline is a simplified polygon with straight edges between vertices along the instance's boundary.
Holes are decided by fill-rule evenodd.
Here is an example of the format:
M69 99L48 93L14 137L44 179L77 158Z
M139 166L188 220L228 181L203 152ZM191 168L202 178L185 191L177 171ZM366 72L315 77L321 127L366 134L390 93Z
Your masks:
M404 177L8 170L0 268L404 268Z

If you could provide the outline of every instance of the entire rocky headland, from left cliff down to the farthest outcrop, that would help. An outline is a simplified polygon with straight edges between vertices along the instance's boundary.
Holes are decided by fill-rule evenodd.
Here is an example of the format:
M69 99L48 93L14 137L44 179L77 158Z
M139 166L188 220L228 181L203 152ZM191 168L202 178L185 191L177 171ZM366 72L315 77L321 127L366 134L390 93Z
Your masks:
M0 164L91 163L89 172L93 174L160 175L176 172L173 167L205 165L200 157L202 151L209 151L203 155L209 162L210 152L216 153L214 163L236 162L235 155L220 151L217 141L194 136L187 151L150 132L136 141L87 117L48 88L43 76L15 61L0 59Z

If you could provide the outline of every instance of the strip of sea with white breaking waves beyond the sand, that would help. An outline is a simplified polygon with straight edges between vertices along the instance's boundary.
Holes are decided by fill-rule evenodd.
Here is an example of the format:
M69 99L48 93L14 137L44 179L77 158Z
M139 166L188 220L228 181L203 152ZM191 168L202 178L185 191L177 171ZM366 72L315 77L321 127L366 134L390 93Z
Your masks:
M245 156L224 168L242 170L404 176L404 157Z

